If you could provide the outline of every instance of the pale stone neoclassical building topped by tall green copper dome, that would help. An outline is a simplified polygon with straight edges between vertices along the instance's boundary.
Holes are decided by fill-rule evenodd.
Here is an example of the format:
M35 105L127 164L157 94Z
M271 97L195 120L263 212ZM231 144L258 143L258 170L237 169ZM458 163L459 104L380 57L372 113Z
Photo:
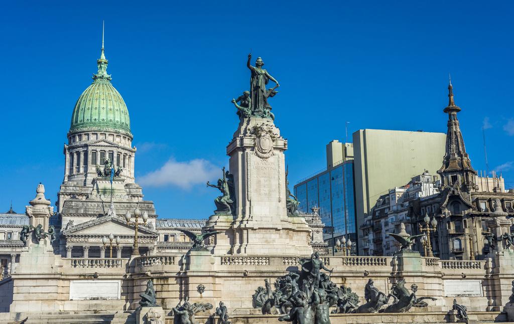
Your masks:
M130 116L121 94L107 74L108 61L102 45L93 83L80 95L71 115L64 145L64 180L58 193L57 214L61 227L60 254L71 257L105 257L104 237L119 237L115 257L188 249L189 239L180 235L166 219L156 221L153 201L143 200L136 184ZM135 210L148 215L139 226L138 251L134 251ZM127 224L125 214L132 216ZM142 217L139 217L139 222ZM183 227L199 231L204 221ZM198 223L198 224L196 224Z

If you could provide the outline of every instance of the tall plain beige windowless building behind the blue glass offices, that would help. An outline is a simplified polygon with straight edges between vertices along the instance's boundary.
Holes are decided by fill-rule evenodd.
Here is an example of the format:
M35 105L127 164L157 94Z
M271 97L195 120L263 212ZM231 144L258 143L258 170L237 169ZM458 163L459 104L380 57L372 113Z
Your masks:
M381 129L354 132L357 228L364 223L377 199L390 188L408 183L425 170L438 170L445 143L446 134L436 132Z

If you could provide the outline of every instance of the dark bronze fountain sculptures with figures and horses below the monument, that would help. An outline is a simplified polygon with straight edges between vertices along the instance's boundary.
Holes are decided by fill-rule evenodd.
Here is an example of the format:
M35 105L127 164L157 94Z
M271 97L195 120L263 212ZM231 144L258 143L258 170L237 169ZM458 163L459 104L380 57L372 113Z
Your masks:
M326 324L330 322L331 313L405 313L412 307L426 307L428 304L424 299L436 300L433 297L417 298L417 285L411 286L410 293L403 278L392 285L386 296L374 287L373 279L369 279L364 288L366 302L358 306L359 296L351 288L337 287L330 280L331 271L325 268L318 253L300 259L299 263L301 271L277 278L274 290L265 279L265 287L259 287L252 296L254 308L261 308L263 314L283 314L279 317L281 321Z

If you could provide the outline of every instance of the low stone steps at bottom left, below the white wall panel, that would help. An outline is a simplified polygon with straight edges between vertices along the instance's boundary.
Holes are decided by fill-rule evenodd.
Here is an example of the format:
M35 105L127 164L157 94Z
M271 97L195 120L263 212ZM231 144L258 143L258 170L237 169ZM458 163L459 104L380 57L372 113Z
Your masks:
M23 318L22 318L23 320ZM28 315L25 322L12 321L9 324L136 324L135 313L93 313L93 312L51 312Z

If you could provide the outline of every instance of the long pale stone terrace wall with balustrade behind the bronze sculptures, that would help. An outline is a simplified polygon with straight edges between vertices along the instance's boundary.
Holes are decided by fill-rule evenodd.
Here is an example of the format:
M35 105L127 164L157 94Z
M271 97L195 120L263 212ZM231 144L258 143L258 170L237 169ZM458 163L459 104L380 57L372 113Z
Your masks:
M209 302L214 307L225 302L231 314L259 314L252 307L252 294L264 286L264 279L274 282L289 271L299 270L299 257L289 256L214 256L209 252L187 255L144 256L134 259L66 259L54 263L54 273L24 273L13 277L11 314L26 312L116 312L134 310L139 294L152 279L158 303L170 316L171 309L183 298L191 302ZM501 311L511 293L514 279L511 264L514 254L498 255L485 261L439 260L419 254L394 257L327 256L323 262L338 285L351 287L361 298L371 278L380 291L389 294L393 283L406 280L410 290L416 284L416 296L437 298L429 306L413 312L446 312L453 299L470 312ZM496 265L509 265L499 269ZM81 280L119 281L119 299L70 300L70 282ZM12 284L12 283L11 283ZM200 294L197 287L205 286ZM7 287L12 287L8 286ZM4 289L1 289L4 291ZM8 290L8 289L7 289ZM9 293L6 294L6 297ZM2 299L4 300L4 299ZM5 299L8 302L8 299ZM6 311L7 306L1 304Z

